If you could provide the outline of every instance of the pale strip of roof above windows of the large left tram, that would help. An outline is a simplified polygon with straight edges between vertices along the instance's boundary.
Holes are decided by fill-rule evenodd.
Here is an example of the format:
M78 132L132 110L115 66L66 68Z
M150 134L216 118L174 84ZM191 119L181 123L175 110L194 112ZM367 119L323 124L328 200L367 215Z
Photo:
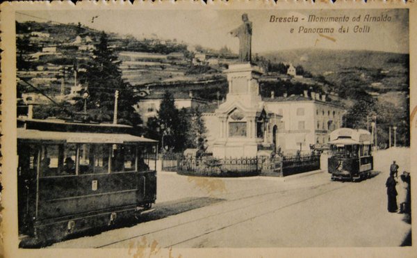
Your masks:
M156 143L156 140L131 134L79 133L17 129L17 138L24 140L51 140L67 143Z

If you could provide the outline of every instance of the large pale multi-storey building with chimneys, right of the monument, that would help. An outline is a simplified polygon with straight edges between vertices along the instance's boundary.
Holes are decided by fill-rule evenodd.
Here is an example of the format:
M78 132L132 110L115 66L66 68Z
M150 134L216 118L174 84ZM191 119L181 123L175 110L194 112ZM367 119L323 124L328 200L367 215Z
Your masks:
M275 145L284 153L309 152L310 146L322 146L329 134L341 128L345 108L327 101L326 95L304 90L303 95L263 98L268 111L282 115L281 131Z

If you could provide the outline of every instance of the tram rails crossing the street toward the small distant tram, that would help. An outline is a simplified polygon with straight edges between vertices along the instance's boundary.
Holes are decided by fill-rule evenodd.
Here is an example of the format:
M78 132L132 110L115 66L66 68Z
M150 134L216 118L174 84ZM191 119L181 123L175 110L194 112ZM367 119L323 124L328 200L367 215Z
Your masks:
M332 185L332 184L333 184L332 182L327 182L325 184L320 184L320 186L329 186L329 185ZM197 234L197 235L194 235L194 236L192 236L188 239L183 239L183 240L175 242L175 243L170 243L169 245L164 245L163 247L169 248L169 247L172 247L174 245L179 245L181 243L186 243L187 241L197 239L197 238L199 238L201 236L204 236L206 234L211 234L213 232L220 231L220 230L222 230L224 228L227 228L227 227L232 227L232 226L238 225L240 223L245 223L249 220L253 220L254 218L259 218L259 217L265 216L269 213L274 213L276 211L279 211L280 209L285 209L286 207L291 207L293 205L296 205L296 204L299 204L299 203L302 203L302 202L306 202L308 200L311 200L314 197L318 197L320 195L324 195L324 194L332 192L332 191L337 191L338 189L345 188L347 186L349 186L349 185L346 184L346 185L339 186L339 187L336 187L336 188L331 188L327 191L321 191L318 194L309 195L309 197L304 197L301 200L296 200L296 201L290 202L289 204L284 204L283 206L280 206L276 209L270 209L268 211L258 213L254 216L250 216L248 218L243 218L243 219L234 221L233 223L227 223L226 225L222 225L220 227L216 227L215 229L208 230L207 232L204 232L203 234ZM158 233L161 233L161 232L164 232L164 231L167 231L167 230L170 230L170 229L174 229L174 228L177 228L177 227L183 227L185 225L192 225L193 223L199 223L199 222L202 222L202 221L205 221L205 220L208 220L208 219L213 219L216 216L227 216L227 214L229 214L229 213L233 214L233 213L236 213L237 211L244 211L245 209L254 208L254 207L259 206L259 205L261 205L263 207L265 207L265 206L268 207L268 205L264 205L264 204L266 204L268 202L276 201L277 196L275 196L275 195L285 193L285 195L279 195L279 197L283 197L283 196L286 196L286 195L291 195L291 193L295 193L295 192L300 191L300 190L306 191L307 188L316 188L316 187L306 186L306 187L301 188L301 189L300 188L295 188L295 189L290 189L290 190L286 189L286 190L281 190L281 191L271 191L271 192L266 192L266 193L264 192L264 193L259 193L259 194L256 194L256 195L249 195L249 196L245 196L245 197L239 197L239 198L236 198L236 199L226 200L224 202L219 202L218 204L214 204L212 207L214 207L216 205L224 205L224 203L226 203L226 202L229 204L229 206L231 206L231 204L233 204L233 203L237 202L238 204L240 204L239 202L242 202L242 201L245 201L245 200L252 200L252 203L251 204L248 204L247 202L241 203L240 205L238 205L238 207L236 207L234 209L229 209L227 211L222 210L220 212L214 212L214 213L212 213L211 215L208 215L208 216L202 216L202 217L196 218L194 220L187 220L183 223L178 223L178 224L172 225L170 227L163 227L161 229L156 229L156 230L152 230L152 231L149 231L149 232L146 232L146 233L137 234L135 236L130 236L128 238L113 241L111 243L106 243L104 245L99 245L99 246L96 246L95 248L106 248L106 247L109 247L111 245L117 245L117 244L120 244L120 243L123 243L123 242L126 242L126 241L131 241L132 239L136 239L136 238L140 238L140 237L146 237L146 236L149 236L149 235L152 235L152 234L158 234ZM259 197L264 197L264 196L268 196L268 195L273 195L273 197L269 197L268 199L262 200L260 202L257 201L257 199ZM221 209L218 209L218 210L221 210Z

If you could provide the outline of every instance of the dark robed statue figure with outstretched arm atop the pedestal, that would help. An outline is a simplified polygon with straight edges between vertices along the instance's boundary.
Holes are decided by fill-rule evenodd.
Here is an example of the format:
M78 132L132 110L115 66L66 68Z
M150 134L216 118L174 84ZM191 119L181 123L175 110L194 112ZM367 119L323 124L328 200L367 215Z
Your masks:
M242 15L243 24L230 31L230 34L239 38L239 61L251 62L252 50L252 22L249 21L247 14Z

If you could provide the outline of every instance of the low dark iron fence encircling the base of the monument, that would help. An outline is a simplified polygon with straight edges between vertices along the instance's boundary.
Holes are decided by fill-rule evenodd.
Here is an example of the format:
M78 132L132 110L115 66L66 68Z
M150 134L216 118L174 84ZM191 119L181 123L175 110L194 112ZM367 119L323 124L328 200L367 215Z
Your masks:
M275 175L285 177L320 169L320 155L293 155L215 159L213 156L161 156L162 170L182 175L238 177L249 175Z

